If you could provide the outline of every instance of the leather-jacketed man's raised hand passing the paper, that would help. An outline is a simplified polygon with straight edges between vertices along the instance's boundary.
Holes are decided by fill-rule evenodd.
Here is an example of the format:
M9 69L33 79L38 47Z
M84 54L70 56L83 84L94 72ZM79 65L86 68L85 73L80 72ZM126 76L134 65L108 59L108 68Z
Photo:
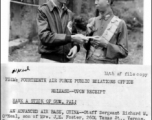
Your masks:
M85 41L89 40L86 36L84 36L82 34L72 35L71 37L72 37L73 42L76 42L76 43L79 43L79 44L82 44Z

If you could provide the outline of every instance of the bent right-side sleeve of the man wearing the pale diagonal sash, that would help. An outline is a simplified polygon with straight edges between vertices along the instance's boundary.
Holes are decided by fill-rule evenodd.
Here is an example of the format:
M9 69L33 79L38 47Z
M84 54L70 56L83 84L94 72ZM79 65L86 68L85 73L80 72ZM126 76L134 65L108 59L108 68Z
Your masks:
M125 58L128 56L128 31L126 23L122 20L119 25L117 43L108 43L106 57L110 59Z

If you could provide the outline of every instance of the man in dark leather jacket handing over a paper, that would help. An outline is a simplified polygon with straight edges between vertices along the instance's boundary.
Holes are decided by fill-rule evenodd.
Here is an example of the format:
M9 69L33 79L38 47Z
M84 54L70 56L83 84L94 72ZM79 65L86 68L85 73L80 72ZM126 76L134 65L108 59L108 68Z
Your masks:
M73 13L67 0L49 0L38 10L39 53L41 62L70 62L83 43L82 35L71 35L67 27Z

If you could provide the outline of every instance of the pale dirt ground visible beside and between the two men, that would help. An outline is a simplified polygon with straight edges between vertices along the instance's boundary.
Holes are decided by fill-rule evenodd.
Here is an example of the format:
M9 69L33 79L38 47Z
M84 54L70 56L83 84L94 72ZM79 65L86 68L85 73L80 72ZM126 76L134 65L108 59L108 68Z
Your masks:
M128 37L129 55L120 60L120 64L142 64L143 63L143 33L130 32ZM79 57L82 57L79 55ZM77 58L81 62L81 58ZM10 56L10 62L39 62L37 43L28 43L23 48L16 49Z

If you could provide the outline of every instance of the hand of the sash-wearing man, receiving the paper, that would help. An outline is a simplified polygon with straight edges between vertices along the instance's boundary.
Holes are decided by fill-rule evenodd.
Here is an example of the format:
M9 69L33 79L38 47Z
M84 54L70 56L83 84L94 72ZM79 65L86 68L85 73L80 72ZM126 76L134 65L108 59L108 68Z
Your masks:
M107 48L107 45L109 43L107 40L103 39L100 36L94 36L92 39L93 39L93 41L91 41L91 44L93 46L99 46L99 47Z

